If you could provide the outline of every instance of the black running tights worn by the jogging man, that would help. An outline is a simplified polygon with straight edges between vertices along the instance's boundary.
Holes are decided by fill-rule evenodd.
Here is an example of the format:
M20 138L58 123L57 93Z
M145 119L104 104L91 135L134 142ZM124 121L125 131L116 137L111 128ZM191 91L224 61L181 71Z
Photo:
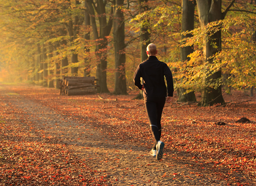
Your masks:
M154 149L156 144L161 138L161 117L165 104L165 97L144 97L144 103L149 120L150 131L152 132L155 140Z

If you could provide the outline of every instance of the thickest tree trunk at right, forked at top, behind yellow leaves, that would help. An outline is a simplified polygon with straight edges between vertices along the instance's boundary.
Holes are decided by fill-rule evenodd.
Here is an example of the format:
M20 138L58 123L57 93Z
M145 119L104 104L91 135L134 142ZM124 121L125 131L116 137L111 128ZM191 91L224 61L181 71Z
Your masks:
M202 29L205 29L208 23L222 19L221 0L196 0L198 6L199 21ZM208 39L209 38L209 39ZM206 34L203 38L204 47L203 54L205 62L213 62L213 55L221 50L221 30L214 33L212 36ZM214 43L217 48L213 48ZM207 86L209 83L214 83L221 78L221 69L212 74L209 73L203 77L203 84ZM212 74L212 75L210 75ZM212 87L205 87L202 93L201 106L225 104L222 96L221 85L214 89Z

